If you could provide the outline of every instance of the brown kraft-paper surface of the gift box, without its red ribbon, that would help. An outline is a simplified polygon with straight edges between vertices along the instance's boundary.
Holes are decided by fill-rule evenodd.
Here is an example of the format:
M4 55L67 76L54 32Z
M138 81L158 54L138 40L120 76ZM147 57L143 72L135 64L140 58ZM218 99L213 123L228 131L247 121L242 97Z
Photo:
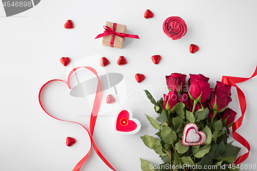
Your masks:
M113 30L113 25L114 25L114 23L106 22L105 26L108 26L109 28L111 28ZM126 33L127 27L125 25L117 24L116 29L114 31L118 32L118 33ZM103 40L102 40L103 46L111 47L112 36L113 36L113 34L103 36ZM119 37L118 35L115 35L113 46L116 48L122 49L123 44L124 44L124 38Z

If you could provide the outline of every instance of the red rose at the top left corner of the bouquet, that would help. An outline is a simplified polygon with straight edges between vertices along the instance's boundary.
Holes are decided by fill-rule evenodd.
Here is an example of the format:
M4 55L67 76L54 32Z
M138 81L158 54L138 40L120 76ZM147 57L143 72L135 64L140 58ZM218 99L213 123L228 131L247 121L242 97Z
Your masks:
M172 73L166 76L168 88L179 93L185 92L187 89L186 77L187 75L181 73Z

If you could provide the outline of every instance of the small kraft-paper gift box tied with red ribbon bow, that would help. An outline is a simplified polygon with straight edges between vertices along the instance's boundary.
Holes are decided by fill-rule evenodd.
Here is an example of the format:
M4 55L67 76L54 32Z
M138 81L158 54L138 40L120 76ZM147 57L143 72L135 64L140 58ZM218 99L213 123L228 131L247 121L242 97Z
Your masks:
M103 37L102 45L104 46L116 47L116 48L122 49L125 37L139 39L138 35L126 34L127 28L125 25L106 22L104 29L105 31L102 34L99 34L95 38L95 39L98 39L100 37Z

